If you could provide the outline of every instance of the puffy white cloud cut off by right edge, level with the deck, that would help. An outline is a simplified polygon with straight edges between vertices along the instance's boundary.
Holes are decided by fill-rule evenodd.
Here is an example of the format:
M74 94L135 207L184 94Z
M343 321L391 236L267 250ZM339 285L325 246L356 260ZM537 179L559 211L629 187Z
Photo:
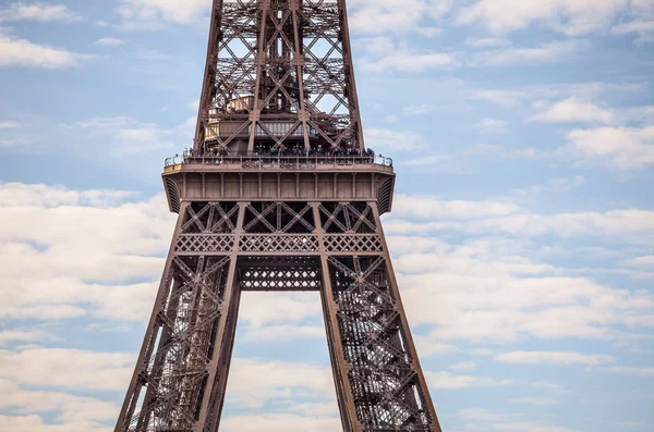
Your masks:
M646 168L654 164L654 126L598 127L573 129L561 155L588 162L600 162L618 170Z

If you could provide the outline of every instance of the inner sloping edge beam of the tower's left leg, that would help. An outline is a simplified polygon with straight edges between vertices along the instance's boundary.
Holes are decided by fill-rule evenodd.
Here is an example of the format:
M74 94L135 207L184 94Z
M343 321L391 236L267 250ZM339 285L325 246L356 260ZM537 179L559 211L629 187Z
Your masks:
M231 354L234 345L237 317L241 300L241 288L237 280L237 266L240 237L243 233L245 218L245 202L239 202L239 217L234 231L234 243L230 254L229 274L227 276L226 293L222 301L222 313L216 338L214 341L214 355L207 366L208 377L202 399L202 408L193 432L217 431L225 403L225 391L231 363Z

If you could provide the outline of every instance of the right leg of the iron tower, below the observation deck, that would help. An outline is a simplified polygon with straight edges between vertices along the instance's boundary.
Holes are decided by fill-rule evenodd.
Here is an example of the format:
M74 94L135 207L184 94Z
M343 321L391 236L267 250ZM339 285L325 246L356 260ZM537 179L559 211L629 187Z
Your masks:
M440 432L376 206L314 211L323 220L323 307L344 431Z

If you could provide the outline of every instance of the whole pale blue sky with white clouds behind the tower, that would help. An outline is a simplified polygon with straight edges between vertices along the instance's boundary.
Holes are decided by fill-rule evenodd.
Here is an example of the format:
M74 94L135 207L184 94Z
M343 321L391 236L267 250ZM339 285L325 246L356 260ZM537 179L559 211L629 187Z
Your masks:
M209 0L0 1L0 429L109 432ZM654 1L350 0L447 432L651 432ZM340 428L318 297L245 295L227 432Z

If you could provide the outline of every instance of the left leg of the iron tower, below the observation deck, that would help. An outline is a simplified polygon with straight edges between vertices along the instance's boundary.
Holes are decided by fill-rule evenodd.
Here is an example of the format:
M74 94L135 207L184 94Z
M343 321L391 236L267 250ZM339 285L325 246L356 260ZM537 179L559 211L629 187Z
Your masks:
M229 206L183 203L116 432L218 430L241 297Z

